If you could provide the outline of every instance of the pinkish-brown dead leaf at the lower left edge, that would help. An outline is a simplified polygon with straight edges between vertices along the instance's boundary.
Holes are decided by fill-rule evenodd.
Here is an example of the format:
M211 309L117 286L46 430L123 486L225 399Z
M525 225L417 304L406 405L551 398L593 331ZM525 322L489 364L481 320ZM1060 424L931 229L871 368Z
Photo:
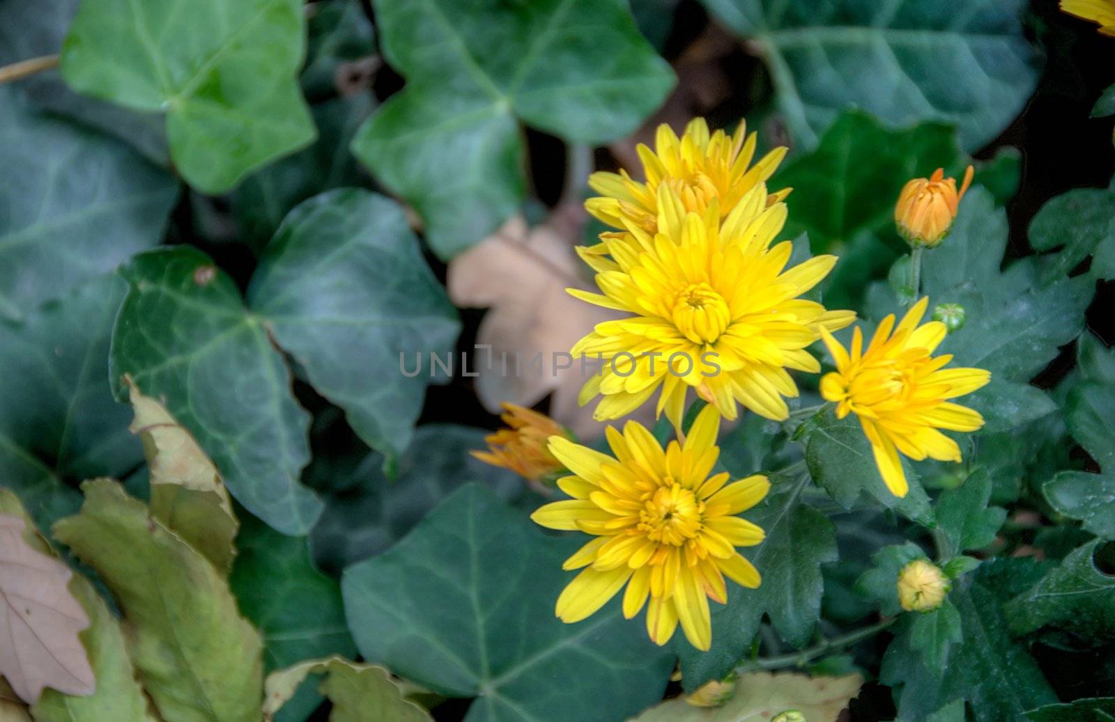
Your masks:
M89 617L67 588L71 572L32 547L23 519L0 514L0 674L27 703L45 687L74 695L96 685L78 632Z

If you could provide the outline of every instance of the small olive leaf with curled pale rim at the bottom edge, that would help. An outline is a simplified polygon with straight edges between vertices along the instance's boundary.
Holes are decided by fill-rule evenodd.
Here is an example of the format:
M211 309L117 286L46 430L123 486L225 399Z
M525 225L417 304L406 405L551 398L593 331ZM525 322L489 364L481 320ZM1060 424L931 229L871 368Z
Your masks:
M270 720L277 710L285 711L290 704L287 699L310 674L326 675L321 691L333 703L330 722L430 720L425 710L404 699L387 670L339 656L301 662L268 675L263 719Z

